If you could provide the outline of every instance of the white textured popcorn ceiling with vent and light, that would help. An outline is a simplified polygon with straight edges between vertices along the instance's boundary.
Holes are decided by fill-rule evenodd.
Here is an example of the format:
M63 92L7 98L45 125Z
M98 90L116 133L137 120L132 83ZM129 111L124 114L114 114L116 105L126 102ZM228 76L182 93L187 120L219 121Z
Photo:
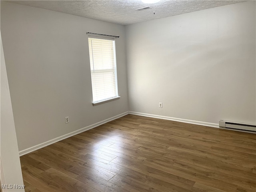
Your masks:
M161 0L155 4L144 4L140 0L12 0L8 1L76 16L128 25L208 8L224 6L240 0ZM150 6L152 9L135 9Z

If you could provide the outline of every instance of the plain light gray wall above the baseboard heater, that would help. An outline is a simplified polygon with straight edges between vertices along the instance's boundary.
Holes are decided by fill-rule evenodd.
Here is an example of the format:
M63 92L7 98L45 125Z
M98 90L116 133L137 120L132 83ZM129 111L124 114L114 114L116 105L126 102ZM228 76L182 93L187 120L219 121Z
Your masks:
M249 1L126 26L130 111L255 123L255 10Z

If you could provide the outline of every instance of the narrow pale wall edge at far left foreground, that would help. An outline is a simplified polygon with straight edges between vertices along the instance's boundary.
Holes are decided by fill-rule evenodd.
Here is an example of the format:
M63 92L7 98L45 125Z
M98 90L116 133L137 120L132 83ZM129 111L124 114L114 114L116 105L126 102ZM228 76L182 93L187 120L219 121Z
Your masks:
M1 94L0 94L0 158L1 158L1 184L7 184L10 189L3 189L8 192L22 192L24 189L14 188L14 185L23 185L22 172L20 168L20 158L18 153L18 144L16 131L14 126L14 118L12 113L12 103L8 79L6 74L6 66L4 61L4 52L2 48L1 38ZM9 185L12 185L13 188ZM1 186L0 186L1 187Z

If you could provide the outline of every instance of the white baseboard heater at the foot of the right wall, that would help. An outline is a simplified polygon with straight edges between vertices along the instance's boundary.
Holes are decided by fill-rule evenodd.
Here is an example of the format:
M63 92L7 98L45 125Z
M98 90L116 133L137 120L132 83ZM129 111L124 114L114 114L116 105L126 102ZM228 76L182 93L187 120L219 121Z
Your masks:
M243 131L256 133L256 124L253 124L253 123L242 123L242 122L220 120L219 126L220 128L228 128L232 130L243 130Z

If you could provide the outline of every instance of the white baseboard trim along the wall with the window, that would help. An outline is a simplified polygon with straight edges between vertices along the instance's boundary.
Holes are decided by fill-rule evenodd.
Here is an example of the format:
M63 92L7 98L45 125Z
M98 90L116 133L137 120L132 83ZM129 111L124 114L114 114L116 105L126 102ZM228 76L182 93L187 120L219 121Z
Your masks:
M76 135L76 134L79 134L79 133L82 133L82 132L84 132L84 131L87 131L87 130L90 130L90 129L92 129L92 128L95 128L95 127L97 127L97 126L100 126L100 125L102 125L102 124L104 124L104 123L107 123L107 122L110 122L110 121L112 121L112 120L118 119L118 118L120 118L120 117L122 117L122 116L125 116L125 115L127 115L127 114L129 114L128 111L127 111L127 112L124 112L124 113L122 113L122 114L116 115L116 116L114 116L114 117L108 118L108 119L106 119L106 120L100 121L100 122L98 122L98 123L95 123L95 124L86 126L86 127L81 128L81 129L79 129L79 130L76 130L76 131L70 132L70 133L68 133L68 134L62 135L62 136L60 136L60 137L57 137L57 138L48 140L48 141L43 142L43 143L41 143L41 144L38 144L38 145L36 145L36 146L33 146L33 147L30 147L30 148L21 150L21 151L19 151L19 155L20 155L20 156L26 155L26 154L31 153L31 152L33 152L33 151L35 151L35 150L40 149L40 148L43 148L43 147L46 147L46 146L48 146L48 145L54 144L54 143L56 143L56 142L58 142L58 141L60 141L60 140L63 140L63 139L72 137L72 136L74 136L74 135Z

